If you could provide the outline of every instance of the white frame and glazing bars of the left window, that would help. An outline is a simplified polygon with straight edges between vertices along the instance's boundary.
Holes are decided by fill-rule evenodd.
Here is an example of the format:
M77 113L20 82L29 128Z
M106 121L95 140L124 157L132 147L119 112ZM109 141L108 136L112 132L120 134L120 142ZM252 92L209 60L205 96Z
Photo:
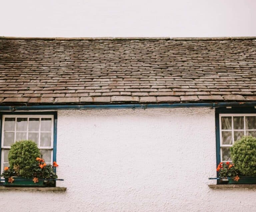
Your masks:
M1 173L4 170L4 150L9 150L11 147L9 146L4 146L4 124L5 124L5 118L15 118L15 130L14 131L8 131L8 132L14 132L14 143L16 142L16 123L17 123L17 118L28 118L28 123L27 123L27 139L28 139L28 125L29 125L29 118L39 118L39 131L36 131L39 133L38 137L38 148L40 150L51 150L51 164L53 163L53 143L54 143L54 115L3 115L2 116L2 132L1 132ZM40 136L41 132L49 132L49 131L41 131L41 118L51 118L52 123L51 123L51 146L49 147L40 147ZM32 133L34 131L31 131ZM2 177L1 177L2 178Z

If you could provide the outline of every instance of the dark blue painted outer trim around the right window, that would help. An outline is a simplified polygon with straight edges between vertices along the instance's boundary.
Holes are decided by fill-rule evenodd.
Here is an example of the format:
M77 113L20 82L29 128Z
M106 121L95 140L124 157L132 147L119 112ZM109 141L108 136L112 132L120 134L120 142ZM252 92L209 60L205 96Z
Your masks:
M216 134L216 167L220 163L220 123L219 123L219 114L222 113L255 113L256 109L254 107L232 107L232 108L216 108L215 109L215 134ZM217 172L217 177L219 174ZM217 180L217 184L220 184L220 180Z

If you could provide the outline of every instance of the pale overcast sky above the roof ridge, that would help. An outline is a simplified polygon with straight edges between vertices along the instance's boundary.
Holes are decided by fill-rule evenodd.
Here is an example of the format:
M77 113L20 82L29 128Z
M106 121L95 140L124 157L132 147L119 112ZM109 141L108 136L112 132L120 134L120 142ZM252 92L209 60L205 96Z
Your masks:
M5 0L0 36L256 36L256 0Z

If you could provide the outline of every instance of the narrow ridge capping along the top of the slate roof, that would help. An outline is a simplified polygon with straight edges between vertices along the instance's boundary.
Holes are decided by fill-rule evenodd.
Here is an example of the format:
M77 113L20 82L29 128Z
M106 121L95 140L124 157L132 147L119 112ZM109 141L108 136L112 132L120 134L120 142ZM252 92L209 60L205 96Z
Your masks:
M0 40L41 40L41 41L99 41L99 40L115 40L115 41L125 41L125 40L173 40L173 41L230 41L230 40L256 40L254 37L181 37L181 38L169 38L169 37L88 37L88 38L40 38L40 37L0 37Z

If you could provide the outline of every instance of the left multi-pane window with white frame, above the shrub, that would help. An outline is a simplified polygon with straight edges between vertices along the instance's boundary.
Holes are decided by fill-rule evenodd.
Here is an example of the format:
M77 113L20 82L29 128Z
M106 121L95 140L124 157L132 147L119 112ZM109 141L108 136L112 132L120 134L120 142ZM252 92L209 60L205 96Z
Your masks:
M9 166L8 153L16 141L32 140L41 152L45 162L56 160L54 144L54 115L2 115L1 173ZM55 142L56 143L56 142Z

